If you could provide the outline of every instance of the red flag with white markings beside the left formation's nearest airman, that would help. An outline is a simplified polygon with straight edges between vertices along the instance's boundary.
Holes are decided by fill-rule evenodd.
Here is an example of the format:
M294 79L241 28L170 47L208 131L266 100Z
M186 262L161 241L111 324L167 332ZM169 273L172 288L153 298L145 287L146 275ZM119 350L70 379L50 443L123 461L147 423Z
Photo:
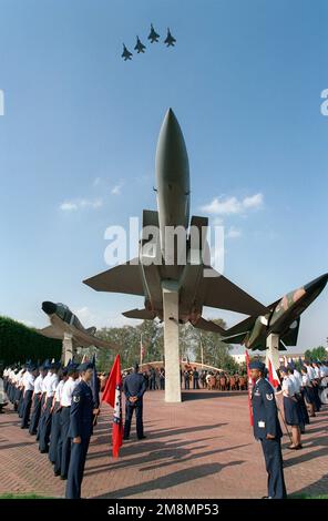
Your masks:
M105 401L114 409L113 415L113 458L119 458L120 447L123 442L123 417L122 417L122 376L121 359L116 355L110 377L106 381L102 401Z

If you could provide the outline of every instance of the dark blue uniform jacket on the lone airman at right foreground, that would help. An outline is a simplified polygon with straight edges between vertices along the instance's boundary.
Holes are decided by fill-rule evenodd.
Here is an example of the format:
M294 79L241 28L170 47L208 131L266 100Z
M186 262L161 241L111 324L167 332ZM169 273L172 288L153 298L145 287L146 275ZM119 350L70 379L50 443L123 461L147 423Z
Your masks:
M266 439L266 435L281 438L283 432L278 420L275 391L265 378L257 380L254 386L252 406L255 438L263 440Z

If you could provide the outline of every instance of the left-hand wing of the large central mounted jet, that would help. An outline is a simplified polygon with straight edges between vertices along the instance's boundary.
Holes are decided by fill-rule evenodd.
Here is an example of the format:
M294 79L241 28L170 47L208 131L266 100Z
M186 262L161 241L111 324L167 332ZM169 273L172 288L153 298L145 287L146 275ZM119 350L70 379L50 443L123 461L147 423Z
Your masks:
M144 296L141 267L135 262L129 260L114 268L102 272L94 277L86 278L83 284L92 287L96 292L127 293L130 295Z

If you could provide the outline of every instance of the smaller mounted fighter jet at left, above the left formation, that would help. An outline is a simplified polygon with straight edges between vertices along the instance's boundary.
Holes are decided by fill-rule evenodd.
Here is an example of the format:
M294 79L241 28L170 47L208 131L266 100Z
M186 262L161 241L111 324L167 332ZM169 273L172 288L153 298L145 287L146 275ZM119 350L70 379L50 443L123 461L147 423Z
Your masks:
M113 344L96 338L94 336L96 331L95 327L89 327L85 329L76 315L74 315L64 304L44 302L42 303L42 310L48 315L51 321L51 326L39 329L39 333L43 336L62 340L64 338L64 334L68 333L72 335L73 344L79 347L95 346L116 348Z

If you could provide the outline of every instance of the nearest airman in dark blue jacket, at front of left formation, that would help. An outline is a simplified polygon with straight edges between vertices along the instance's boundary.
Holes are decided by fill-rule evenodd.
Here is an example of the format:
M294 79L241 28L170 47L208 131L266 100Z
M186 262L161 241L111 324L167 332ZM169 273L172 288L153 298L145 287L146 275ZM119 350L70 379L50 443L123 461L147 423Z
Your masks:
M96 413L89 385L93 374L93 365L91 362L81 364L78 370L81 381L73 390L70 410L69 437L72 439L72 445L65 493L68 499L81 498L81 483L92 435L93 415Z

